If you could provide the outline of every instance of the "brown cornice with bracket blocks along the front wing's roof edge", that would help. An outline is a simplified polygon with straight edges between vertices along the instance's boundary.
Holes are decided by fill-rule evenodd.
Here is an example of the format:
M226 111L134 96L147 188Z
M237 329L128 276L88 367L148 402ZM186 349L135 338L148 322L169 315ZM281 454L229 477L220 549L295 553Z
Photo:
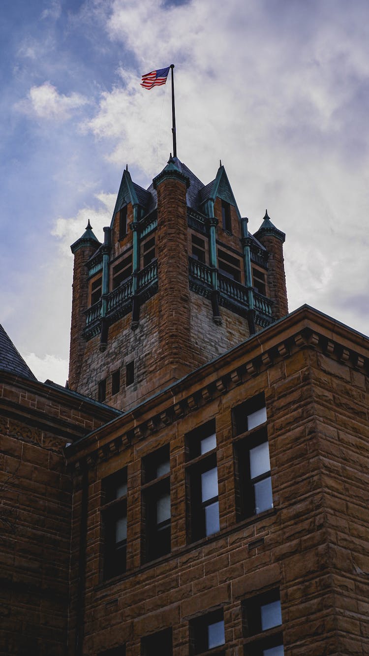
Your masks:
M69 464L96 462L147 438L302 348L369 372L369 338L309 306L256 333L66 449Z

